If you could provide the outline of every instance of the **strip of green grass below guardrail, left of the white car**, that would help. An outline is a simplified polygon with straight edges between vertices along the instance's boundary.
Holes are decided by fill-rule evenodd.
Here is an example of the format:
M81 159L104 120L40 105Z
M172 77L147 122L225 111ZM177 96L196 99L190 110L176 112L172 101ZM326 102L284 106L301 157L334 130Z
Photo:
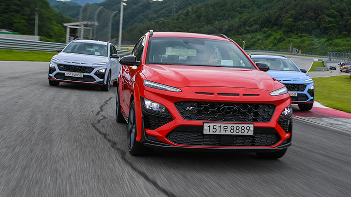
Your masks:
M50 62L52 56L56 54L57 53L48 52L0 50L0 60Z

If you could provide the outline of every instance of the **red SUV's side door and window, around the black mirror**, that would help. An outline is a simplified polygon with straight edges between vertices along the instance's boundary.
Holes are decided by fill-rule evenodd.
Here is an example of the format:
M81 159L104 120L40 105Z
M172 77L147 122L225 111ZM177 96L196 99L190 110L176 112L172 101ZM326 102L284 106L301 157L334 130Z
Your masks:
M145 45L145 37L141 37L136 46L134 47L132 51L132 55L137 57L137 61L141 61L141 55L142 51ZM133 86L133 81L132 78L134 74L136 73L136 66L125 66L122 65L122 72L123 72L123 84L122 84L122 94L123 94L123 104L124 107L126 107L129 111L129 104L130 104L130 99L131 95L133 93L132 86ZM122 104L121 104L122 105ZM122 105L123 107L123 105Z

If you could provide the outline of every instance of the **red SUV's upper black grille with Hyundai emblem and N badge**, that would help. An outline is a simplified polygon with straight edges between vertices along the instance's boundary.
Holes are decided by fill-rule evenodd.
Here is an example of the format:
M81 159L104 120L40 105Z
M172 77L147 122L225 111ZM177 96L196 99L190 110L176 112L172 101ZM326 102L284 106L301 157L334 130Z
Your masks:
M180 101L175 106L184 120L269 122L276 106L266 103Z

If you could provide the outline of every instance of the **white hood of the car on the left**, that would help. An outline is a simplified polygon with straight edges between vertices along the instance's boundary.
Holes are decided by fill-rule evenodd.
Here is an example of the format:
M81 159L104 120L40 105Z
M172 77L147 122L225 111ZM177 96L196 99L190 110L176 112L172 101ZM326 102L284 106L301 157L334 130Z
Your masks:
M59 59L61 62L79 62L79 63L102 63L107 62L107 57L105 56L92 56L92 55L84 55L84 54L76 54L76 53L65 53L61 52L54 56L54 58Z

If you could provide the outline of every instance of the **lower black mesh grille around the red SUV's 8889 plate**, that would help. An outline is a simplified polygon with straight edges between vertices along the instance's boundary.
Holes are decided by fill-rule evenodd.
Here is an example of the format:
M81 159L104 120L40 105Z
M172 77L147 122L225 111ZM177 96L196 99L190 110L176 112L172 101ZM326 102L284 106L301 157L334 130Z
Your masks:
M179 145L238 147L273 146L281 140L273 128L254 128L253 135L203 134L202 128L202 126L179 126L168 133L166 138Z

